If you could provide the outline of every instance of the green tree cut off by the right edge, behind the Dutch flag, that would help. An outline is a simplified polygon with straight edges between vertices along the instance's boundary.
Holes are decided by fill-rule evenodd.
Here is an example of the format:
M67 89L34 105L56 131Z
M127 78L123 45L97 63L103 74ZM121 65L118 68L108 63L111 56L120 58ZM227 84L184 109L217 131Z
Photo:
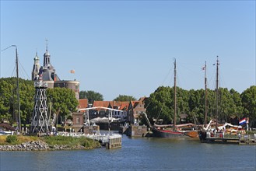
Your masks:
M245 117L250 118L251 125L256 126L256 86L251 86L241 94Z

